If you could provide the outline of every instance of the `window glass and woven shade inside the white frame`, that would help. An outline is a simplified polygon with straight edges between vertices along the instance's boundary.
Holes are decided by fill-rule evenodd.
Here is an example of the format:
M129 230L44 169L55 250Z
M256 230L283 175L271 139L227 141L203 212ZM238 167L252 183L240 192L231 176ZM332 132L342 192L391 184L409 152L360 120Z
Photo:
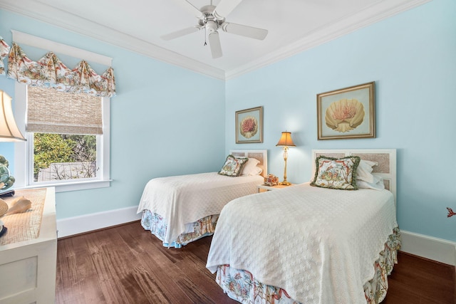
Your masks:
M103 134L101 112L100 97L28 86L31 184L96 179L98 135Z

